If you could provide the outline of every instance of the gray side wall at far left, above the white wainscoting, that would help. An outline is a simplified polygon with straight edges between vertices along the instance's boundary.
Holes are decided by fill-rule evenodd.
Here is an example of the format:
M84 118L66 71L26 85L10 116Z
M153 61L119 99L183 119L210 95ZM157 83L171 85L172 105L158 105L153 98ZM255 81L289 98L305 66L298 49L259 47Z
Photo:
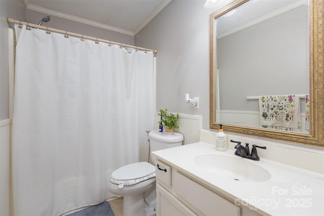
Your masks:
M0 0L0 120L9 118L8 17L26 19L22 0Z

